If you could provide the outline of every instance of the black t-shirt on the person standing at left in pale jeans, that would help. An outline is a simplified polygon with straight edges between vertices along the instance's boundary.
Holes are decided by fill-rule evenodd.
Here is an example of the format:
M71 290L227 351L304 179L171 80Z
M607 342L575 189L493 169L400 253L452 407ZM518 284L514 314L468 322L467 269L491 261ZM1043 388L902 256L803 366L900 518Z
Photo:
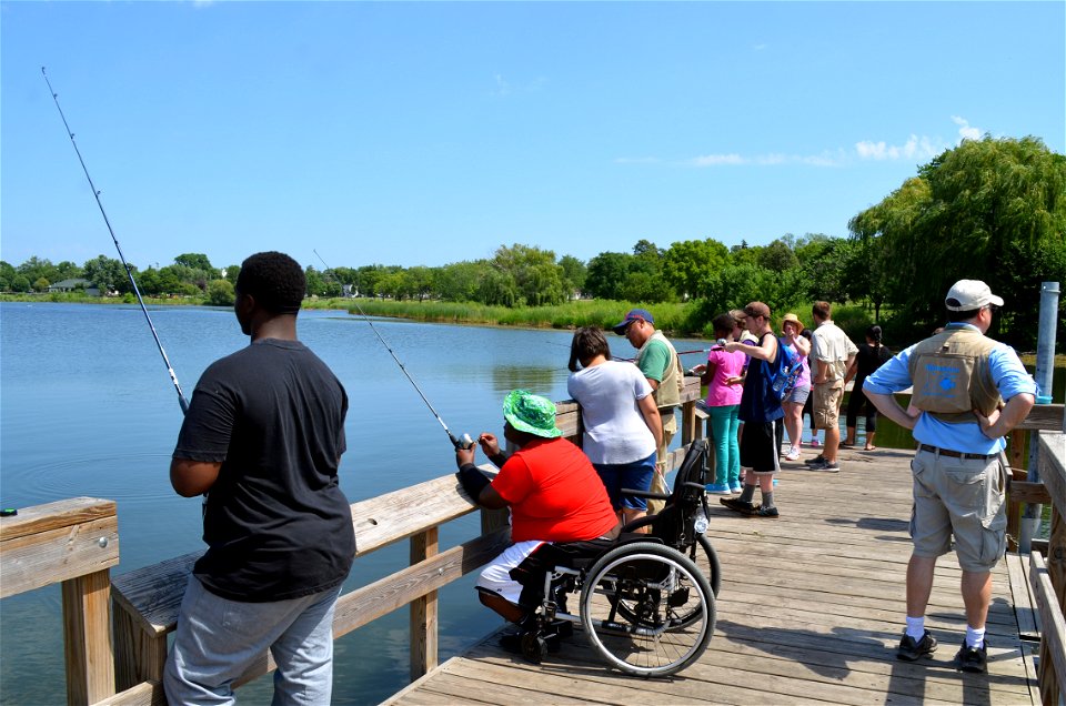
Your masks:
M173 456L222 463L193 568L211 593L282 601L344 581L355 554L336 477L346 413L340 381L298 341L257 341L203 373Z

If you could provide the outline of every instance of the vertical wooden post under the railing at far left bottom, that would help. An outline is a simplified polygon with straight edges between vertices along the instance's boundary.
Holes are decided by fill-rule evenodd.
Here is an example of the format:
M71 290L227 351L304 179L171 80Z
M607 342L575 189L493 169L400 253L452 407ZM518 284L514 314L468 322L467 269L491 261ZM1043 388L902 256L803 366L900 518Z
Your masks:
M114 695L111 653L111 575L99 572L62 582L67 703L84 706Z

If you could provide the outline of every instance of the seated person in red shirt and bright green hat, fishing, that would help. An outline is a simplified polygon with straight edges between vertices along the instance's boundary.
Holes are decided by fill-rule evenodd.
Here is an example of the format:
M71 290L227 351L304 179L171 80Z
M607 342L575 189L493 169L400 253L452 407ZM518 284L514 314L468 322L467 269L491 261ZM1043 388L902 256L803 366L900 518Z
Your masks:
M500 473L493 481L482 474L471 447L456 450L456 475L479 505L511 508L513 544L482 571L477 594L483 605L527 629L537 602L529 595L523 599L523 585L511 577L512 569L551 543L612 541L621 524L587 456L560 438L550 400L514 390L503 401L503 417L504 438L519 451L509 457L495 435L483 433L477 442ZM502 645L513 649L521 633L505 636Z

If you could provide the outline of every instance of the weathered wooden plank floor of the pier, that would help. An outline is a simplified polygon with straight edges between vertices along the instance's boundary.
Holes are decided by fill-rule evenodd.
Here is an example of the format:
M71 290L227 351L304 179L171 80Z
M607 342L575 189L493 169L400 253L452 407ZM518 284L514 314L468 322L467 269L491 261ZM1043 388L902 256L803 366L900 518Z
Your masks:
M540 666L503 653L492 635L388 703L1038 704L1036 648L1020 641L1015 615L1014 596L1027 591L1010 583L1025 578L1016 563L1012 572L1000 562L994 574L987 675L952 666L965 632L954 555L938 563L926 617L939 641L934 658L895 659L911 554L911 455L842 452L839 474L786 463L776 521L740 517L712 497L708 534L723 572L717 627L700 663L672 678L609 670L581 631Z

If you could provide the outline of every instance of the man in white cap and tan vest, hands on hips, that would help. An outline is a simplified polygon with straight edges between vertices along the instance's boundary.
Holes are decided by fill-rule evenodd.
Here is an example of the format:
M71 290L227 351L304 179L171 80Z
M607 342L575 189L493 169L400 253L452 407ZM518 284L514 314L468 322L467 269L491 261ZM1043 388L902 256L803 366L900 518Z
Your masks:
M1003 306L987 284L959 280L944 304L949 322L944 331L885 363L863 390L882 414L913 430L918 442L911 462L914 549L907 564L907 621L896 656L914 662L936 649L936 638L925 629L925 609L936 559L951 551L954 535L966 608L966 637L955 667L984 673L992 569L1006 545L1003 437L1029 413L1036 384L1014 349L984 335ZM917 416L893 397L912 384Z

